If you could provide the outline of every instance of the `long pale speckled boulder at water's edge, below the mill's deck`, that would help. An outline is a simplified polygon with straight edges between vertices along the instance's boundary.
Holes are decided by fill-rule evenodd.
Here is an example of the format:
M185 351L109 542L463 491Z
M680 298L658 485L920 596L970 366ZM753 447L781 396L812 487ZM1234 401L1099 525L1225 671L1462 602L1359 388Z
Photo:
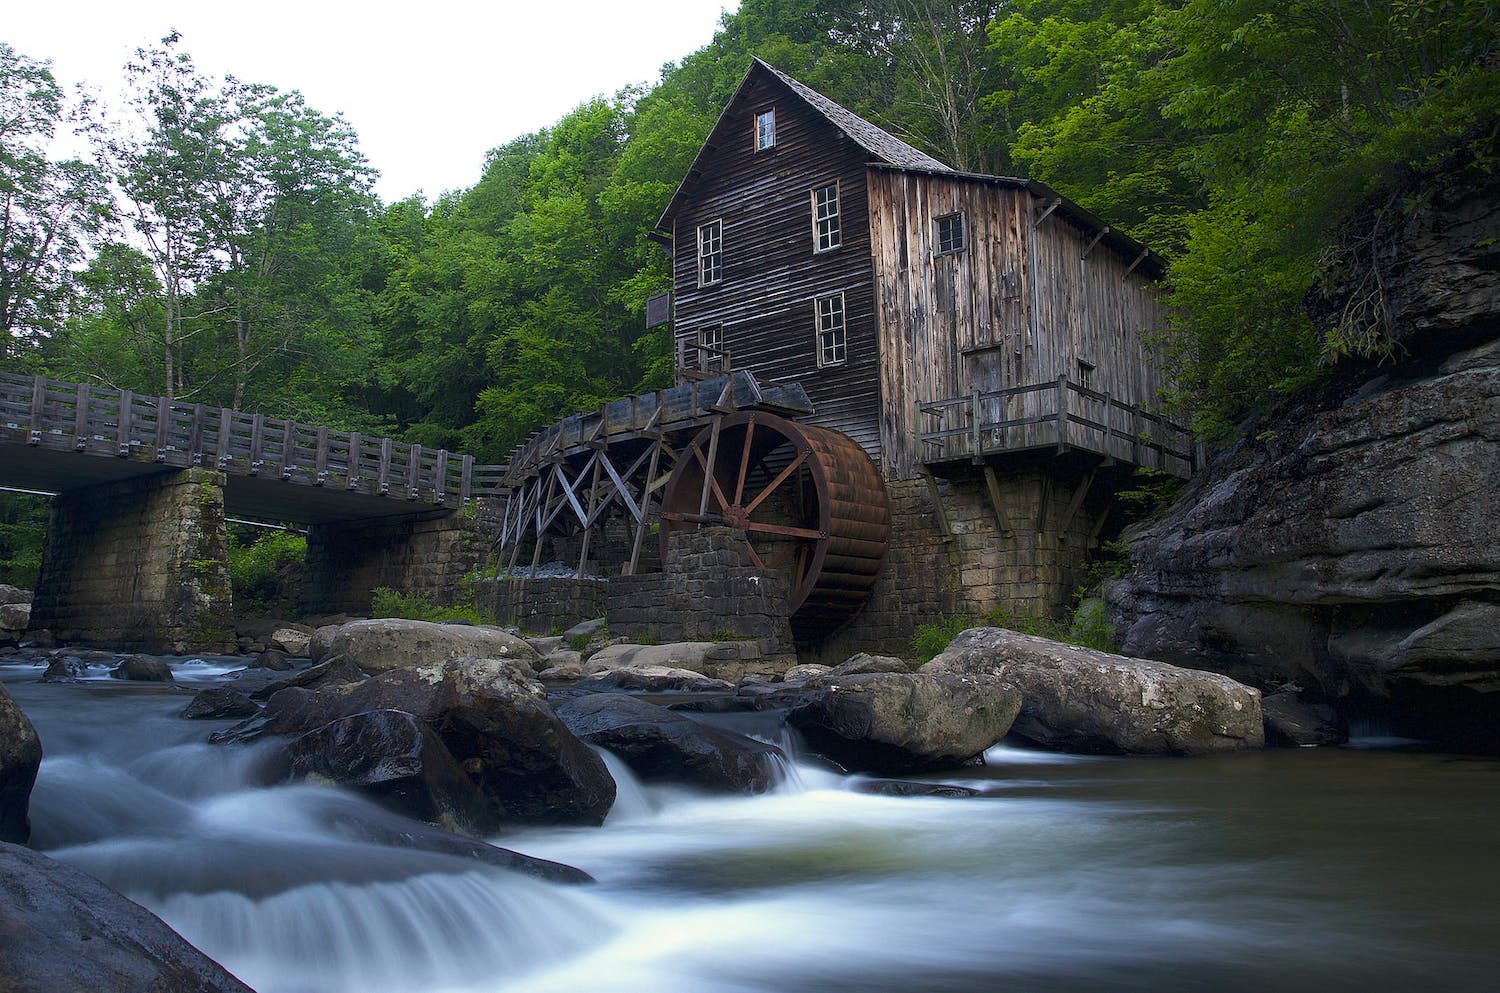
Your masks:
M1260 692L1228 676L999 627L963 632L921 672L1014 686L1014 734L1048 748L1202 754L1264 744Z

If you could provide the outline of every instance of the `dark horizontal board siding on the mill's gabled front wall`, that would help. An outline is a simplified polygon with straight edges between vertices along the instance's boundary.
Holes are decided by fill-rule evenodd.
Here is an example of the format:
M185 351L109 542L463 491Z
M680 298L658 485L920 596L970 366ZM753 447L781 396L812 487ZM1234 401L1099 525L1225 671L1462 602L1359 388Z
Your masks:
M675 334L718 324L736 369L796 380L808 423L879 459L879 348L866 196L868 154L768 75L753 76L708 138L672 219ZM754 150L754 116L776 108L776 147ZM842 246L813 250L812 190L838 183ZM698 285L698 228L723 222L723 280ZM848 360L819 368L814 300L844 294Z

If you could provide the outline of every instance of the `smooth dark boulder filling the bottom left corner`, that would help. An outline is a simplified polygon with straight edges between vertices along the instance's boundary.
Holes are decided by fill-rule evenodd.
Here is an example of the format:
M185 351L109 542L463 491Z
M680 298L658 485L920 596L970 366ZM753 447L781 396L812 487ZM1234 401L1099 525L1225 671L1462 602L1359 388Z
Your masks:
M6 993L255 993L156 915L93 876L0 844Z

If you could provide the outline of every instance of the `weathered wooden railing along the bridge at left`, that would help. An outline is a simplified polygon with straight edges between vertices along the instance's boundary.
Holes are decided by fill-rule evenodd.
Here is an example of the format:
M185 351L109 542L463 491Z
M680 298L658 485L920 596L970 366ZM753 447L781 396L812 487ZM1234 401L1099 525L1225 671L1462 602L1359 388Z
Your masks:
M54 452L212 465L448 507L500 494L506 472L442 448L9 372L0 372L0 435Z

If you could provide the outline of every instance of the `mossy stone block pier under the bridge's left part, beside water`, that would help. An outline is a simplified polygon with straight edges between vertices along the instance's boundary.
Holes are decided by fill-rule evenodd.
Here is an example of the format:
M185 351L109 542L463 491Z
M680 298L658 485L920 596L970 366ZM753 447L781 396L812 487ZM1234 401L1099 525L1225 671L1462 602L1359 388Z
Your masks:
M152 652L232 651L224 474L190 468L60 494L30 630Z

